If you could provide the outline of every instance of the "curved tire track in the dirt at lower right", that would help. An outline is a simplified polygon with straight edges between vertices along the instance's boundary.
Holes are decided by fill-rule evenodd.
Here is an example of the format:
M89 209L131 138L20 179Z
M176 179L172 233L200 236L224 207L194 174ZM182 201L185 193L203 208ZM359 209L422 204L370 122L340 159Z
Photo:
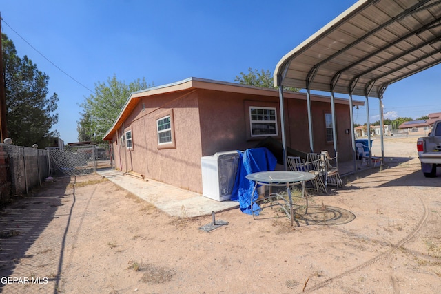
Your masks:
M404 178L407 178L407 177L404 177ZM409 188L410 187L407 187L407 189L409 189ZM389 257L389 255L391 253L393 253L393 251L395 251L396 249L400 248L400 246L403 246L404 244L406 244L407 242L412 240L416 236L416 234L422 229L424 223L427 221L427 218L429 216L429 211L427 209L427 204L424 202L424 200L422 200L422 198L418 195L418 193L416 193L416 191L413 187L412 187L411 191L414 194L414 196L420 200L420 202L422 204L423 212L422 212L422 216L420 218L420 221L418 222L416 227L406 237L402 238L402 240L400 240L400 242L393 245L391 247L391 249L376 255L376 257L371 258L370 260L367 260L366 262L363 262L362 264L360 264L352 269L349 269L348 271L340 273L340 275L336 275L335 277L330 277L329 279L327 279L323 282L320 282L319 284L316 284L315 286L313 286L311 288L305 288L305 291L303 291L302 293L311 293L311 291L316 291L320 288L323 288L324 286L331 284L331 282L334 282L335 280L338 280L342 277L345 277L346 275L351 275L352 273L356 273L357 271L365 269L368 266L371 266L372 264L379 262L380 260L386 260ZM394 287L394 290L396 290L395 287Z

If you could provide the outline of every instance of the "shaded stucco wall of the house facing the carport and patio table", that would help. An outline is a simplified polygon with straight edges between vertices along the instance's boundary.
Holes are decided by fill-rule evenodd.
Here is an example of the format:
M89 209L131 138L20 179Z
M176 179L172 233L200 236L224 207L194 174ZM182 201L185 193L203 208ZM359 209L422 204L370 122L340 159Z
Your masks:
M249 135L249 106L276 107L278 98L244 94L225 94L215 91L201 91L199 94L199 111L201 118L201 142L203 156L218 151L245 150L254 147L265 138L251 138ZM305 97L298 94L298 97ZM312 101L312 121L314 131L314 151L323 150L334 154L333 142L326 141L325 113L331 113L329 102ZM287 115L287 145L291 148L309 152L309 129L307 102L304 99L285 99ZM280 139L280 112L278 111L278 136ZM349 105L336 104L337 145L341 161L351 160L351 128Z

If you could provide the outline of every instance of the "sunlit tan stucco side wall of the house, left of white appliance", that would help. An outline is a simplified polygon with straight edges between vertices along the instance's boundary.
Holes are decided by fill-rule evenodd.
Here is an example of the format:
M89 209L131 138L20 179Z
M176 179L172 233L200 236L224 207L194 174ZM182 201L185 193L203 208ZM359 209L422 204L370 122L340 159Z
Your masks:
M171 93L139 100L124 122L125 130L132 128L133 150L113 143L116 168L200 192L201 130L196 93ZM158 149L156 119L170 111L176 147Z

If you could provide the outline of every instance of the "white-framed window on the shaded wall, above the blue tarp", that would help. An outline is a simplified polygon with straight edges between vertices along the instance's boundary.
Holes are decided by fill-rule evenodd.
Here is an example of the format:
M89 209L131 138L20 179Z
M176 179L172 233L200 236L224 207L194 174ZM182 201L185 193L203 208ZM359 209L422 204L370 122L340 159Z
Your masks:
M251 136L277 136L277 112L275 107L249 107Z

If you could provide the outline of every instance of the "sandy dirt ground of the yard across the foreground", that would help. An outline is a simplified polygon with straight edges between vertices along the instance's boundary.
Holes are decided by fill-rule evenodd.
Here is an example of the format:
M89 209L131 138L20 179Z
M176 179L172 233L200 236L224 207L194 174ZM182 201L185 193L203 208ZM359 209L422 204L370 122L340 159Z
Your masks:
M1 211L0 290L441 293L441 174L424 178L415 142L386 138L384 167L311 198L314 222L294 227L233 209L207 233L212 216L167 216L98 175L45 183Z

